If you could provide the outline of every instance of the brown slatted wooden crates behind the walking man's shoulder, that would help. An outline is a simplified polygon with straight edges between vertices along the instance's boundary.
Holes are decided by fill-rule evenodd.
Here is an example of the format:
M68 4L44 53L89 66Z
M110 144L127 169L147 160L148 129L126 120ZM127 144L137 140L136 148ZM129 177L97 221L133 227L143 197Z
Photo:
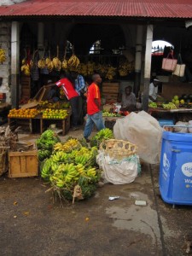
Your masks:
M102 97L106 103L117 102L119 96L119 83L102 83Z

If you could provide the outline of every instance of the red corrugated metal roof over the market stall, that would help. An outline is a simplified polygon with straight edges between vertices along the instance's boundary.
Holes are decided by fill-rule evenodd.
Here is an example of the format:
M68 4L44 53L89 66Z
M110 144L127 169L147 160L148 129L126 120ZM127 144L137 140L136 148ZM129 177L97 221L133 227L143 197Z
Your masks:
M29 0L0 6L0 16L119 16L192 18L192 0Z

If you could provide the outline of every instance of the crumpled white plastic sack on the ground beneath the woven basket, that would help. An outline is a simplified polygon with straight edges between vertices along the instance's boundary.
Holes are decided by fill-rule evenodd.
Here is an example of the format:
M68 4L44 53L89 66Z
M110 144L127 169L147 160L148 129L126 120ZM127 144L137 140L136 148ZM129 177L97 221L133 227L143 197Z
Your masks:
M132 183L141 171L137 154L115 160L102 150L96 156L96 163L102 169L102 178L105 183L126 184Z

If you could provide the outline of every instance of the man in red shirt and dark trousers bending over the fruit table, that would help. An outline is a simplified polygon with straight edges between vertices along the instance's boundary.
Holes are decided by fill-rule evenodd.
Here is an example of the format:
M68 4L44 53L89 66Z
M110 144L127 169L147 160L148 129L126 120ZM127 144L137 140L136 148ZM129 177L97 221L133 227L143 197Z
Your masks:
M62 87L70 102L72 108L72 131L79 130L79 94L74 89L73 79L67 78L65 74L61 74L61 79L55 83L58 87Z

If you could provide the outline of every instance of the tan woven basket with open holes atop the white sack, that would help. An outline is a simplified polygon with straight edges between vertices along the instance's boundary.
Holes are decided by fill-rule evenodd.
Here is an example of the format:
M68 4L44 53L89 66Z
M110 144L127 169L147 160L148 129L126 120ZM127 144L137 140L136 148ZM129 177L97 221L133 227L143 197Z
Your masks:
M114 159L123 159L137 153L137 146L128 141L110 139L100 144L100 150Z

